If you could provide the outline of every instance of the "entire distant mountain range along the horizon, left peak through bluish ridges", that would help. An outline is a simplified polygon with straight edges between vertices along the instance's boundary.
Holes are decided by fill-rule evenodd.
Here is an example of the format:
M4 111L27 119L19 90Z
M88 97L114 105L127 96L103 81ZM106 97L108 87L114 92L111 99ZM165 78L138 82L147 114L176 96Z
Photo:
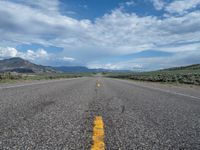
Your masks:
M89 69L84 66L50 67L36 65L19 57L0 60L0 72L17 73L83 73L83 72L127 72L127 70Z

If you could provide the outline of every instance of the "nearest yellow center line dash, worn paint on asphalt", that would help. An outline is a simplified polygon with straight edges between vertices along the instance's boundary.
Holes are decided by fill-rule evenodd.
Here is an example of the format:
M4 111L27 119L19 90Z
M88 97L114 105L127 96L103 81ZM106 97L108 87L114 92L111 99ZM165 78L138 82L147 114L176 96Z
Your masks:
M93 145L91 147L91 150L105 150L104 125L101 116L95 117L92 139Z

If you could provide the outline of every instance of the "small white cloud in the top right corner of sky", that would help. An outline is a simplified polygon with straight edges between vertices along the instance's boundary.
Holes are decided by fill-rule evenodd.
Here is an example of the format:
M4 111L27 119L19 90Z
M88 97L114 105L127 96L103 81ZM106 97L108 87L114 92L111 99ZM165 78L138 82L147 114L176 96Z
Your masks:
M170 13L183 14L198 5L200 5L200 0L175 0L166 7L166 10Z

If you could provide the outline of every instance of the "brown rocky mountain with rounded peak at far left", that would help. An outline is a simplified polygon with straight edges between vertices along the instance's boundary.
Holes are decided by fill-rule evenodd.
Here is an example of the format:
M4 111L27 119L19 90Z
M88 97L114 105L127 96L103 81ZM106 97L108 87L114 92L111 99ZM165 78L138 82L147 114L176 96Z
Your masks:
M15 57L0 60L0 72L48 73L56 71L52 67L36 65L30 61Z

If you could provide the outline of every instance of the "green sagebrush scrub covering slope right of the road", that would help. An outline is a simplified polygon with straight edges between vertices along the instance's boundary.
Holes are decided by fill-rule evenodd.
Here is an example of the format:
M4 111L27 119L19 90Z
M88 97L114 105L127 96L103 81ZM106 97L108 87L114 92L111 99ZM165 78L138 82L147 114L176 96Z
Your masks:
M109 73L106 76L139 81L200 85L200 65L151 72Z

